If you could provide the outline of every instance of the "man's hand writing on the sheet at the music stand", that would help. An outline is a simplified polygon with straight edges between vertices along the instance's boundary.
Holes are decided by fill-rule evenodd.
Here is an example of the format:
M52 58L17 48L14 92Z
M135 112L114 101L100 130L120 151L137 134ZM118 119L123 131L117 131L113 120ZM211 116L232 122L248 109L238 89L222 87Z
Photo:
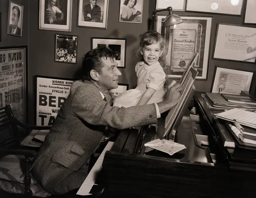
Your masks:
M175 81L172 81L171 84L167 88L166 97L163 102L157 103L159 112L162 114L170 108L174 107L180 99L182 86L177 84Z

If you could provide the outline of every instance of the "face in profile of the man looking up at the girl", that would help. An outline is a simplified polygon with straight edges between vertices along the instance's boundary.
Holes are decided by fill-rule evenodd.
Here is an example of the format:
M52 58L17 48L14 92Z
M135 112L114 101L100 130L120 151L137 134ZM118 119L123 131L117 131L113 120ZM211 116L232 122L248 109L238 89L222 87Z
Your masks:
M121 72L117 68L116 59L110 59L103 57L102 62L104 66L99 74L98 83L104 90L112 90L118 88L118 78L121 76Z

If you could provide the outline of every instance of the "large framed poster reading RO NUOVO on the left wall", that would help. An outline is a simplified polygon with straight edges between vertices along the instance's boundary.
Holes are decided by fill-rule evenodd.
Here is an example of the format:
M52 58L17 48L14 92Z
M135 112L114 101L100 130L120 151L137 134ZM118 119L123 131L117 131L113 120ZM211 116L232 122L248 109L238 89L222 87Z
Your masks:
M2 68L0 108L10 105L16 119L26 124L28 123L28 46L1 47L0 68ZM3 128L1 127L1 130L4 130Z

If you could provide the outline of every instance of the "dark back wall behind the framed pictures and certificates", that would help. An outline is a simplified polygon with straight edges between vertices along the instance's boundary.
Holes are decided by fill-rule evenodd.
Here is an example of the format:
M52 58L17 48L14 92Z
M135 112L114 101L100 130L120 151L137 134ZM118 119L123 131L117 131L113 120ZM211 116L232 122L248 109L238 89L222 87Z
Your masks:
M6 1L7 2L7 1ZM3 4L7 3L4 2ZM22 2L27 4L26 0ZM91 37L105 37L105 38L127 38L126 46L126 68L120 69L122 76L119 78L119 83L128 83L129 88L135 88L137 84L137 77L135 74L135 61L133 60L134 51L138 46L138 36L147 31L149 28L149 21L151 13L155 8L156 0L144 0L142 24L120 23L119 20L119 0L109 0L108 14L107 14L107 29L93 29L93 28L78 28L77 27L77 11L78 1L73 0L72 8L72 31L46 31L38 30L38 2L39 0L29 0L29 38L28 38L28 54L29 54L29 70L28 70L28 94L29 94L29 122L33 123L34 119L34 81L35 75L75 78L81 66L82 56L91 49ZM1 3L1 2L0 2ZM5 6L5 5L4 5ZM2 9L2 6L1 6ZM168 14L161 12L161 14ZM202 14L196 12L175 12L178 15L204 15L213 16L213 26L211 33L211 47L209 53L208 65L208 80L195 81L195 87L199 91L210 91L213 81L214 70L216 65L232 67L237 69L245 69L249 71L256 71L255 64L239 63L223 60L213 60L213 48L216 34L216 27L218 22L230 24L242 24L244 10L242 16L228 16L221 14ZM4 24L5 25L5 24ZM24 23L26 26L26 24ZM249 26L250 27L250 26ZM251 26L253 27L253 26ZM255 27L255 26L254 26ZM26 28L24 28L26 29ZM78 36L78 53L77 64L67 64L54 62L54 45L55 34L71 34ZM27 36L24 32L24 38ZM9 36L11 37L11 36ZM22 38L23 39L23 38ZM19 43L20 45L24 45ZM18 45L18 44L17 44ZM254 77L251 92L255 94L256 78Z

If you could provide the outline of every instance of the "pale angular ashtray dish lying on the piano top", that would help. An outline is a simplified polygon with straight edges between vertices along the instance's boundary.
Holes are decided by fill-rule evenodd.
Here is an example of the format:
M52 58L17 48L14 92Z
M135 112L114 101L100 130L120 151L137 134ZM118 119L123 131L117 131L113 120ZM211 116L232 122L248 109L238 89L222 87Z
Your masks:
M164 153L168 153L169 155L173 155L174 153L177 153L186 148L185 145L167 139L155 139L153 141L145 143L144 146L148 146Z

